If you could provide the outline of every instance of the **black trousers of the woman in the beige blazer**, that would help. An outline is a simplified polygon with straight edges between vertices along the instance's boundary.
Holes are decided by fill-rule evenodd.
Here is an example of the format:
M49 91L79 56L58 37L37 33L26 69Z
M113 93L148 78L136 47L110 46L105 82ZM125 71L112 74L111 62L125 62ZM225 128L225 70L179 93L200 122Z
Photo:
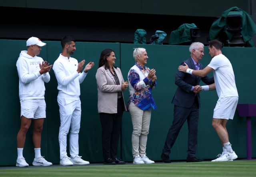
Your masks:
M124 102L120 98L117 101L117 113L100 113L100 123L102 127L102 152L103 158L116 158L118 151L118 141L121 132Z

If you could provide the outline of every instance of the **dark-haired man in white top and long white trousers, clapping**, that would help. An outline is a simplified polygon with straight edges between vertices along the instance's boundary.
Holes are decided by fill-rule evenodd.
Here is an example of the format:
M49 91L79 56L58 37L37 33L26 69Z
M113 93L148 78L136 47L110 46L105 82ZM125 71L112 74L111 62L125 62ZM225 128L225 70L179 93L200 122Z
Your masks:
M85 60L78 63L70 57L76 50L76 40L65 36L61 40L62 54L53 64L54 74L58 81L58 105L60 107L60 165L88 165L79 156L78 133L81 119L80 84L84 81L88 70L94 66L89 62L84 70ZM81 72L82 71L82 72ZM81 73L80 73L81 72ZM67 155L67 134L70 129L70 158Z

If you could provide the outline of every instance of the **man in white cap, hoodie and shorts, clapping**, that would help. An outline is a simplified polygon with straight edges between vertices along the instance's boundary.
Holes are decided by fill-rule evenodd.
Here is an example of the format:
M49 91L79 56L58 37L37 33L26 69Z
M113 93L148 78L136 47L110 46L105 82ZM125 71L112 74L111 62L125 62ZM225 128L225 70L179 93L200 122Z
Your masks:
M28 167L23 157L23 148L26 133L31 125L34 125L33 143L35 150L34 166L50 166L52 163L46 161L41 156L41 132L44 118L46 117L46 103L44 101L44 82L50 81L48 73L52 68L47 61L38 57L42 46L46 43L36 37L27 40L28 51L20 52L20 57L16 62L19 75L19 96L20 96L20 131L17 135L18 158L17 167Z

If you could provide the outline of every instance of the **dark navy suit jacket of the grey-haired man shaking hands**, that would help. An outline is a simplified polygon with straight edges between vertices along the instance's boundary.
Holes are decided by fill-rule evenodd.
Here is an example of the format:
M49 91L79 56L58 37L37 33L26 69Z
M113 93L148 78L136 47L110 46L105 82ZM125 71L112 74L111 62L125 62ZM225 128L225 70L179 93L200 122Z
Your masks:
M188 67L192 70L196 70L196 66L190 57L188 60L184 61ZM200 62L199 62L200 63ZM184 63L182 62L182 65ZM200 70L204 69L203 65L200 63ZM193 91L190 91L192 86L200 85L200 81L203 81L206 85L213 84L214 78L205 76L204 78L196 77L184 72L177 71L175 76L175 84L178 86L175 95L172 99L172 103L174 105L180 106L180 107L186 107L190 108L192 107L195 98L198 98L198 104L200 106L200 94L194 93Z

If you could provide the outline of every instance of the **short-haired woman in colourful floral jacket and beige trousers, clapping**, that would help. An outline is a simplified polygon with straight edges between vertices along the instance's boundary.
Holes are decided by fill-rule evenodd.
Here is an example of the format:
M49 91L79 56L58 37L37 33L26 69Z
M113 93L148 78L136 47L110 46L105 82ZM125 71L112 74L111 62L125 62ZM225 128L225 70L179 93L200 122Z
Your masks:
M135 65L128 73L130 97L128 110L132 118L132 155L134 164L150 164L154 161L146 156L151 107L156 109L156 103L151 91L156 86L156 70L145 66L148 54L144 48L136 48L133 52Z

